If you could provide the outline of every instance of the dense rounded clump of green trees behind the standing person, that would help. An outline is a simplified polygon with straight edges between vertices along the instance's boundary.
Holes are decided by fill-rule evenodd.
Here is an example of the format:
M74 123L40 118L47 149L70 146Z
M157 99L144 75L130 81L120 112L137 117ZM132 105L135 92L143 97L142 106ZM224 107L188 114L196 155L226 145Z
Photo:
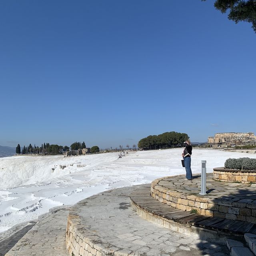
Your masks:
M164 132L159 135L149 135L138 142L138 147L144 150L159 148L176 148L188 140L188 134L180 132Z

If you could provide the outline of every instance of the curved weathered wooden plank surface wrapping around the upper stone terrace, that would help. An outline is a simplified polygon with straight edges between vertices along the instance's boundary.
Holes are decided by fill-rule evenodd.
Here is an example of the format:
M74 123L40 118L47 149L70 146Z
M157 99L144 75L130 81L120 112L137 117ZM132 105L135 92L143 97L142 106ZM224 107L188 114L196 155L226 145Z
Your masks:
M150 184L141 185L136 188L130 194L130 199L141 209L180 224L221 231L228 234L256 234L256 224L254 223L190 214L190 212L163 204L150 196Z

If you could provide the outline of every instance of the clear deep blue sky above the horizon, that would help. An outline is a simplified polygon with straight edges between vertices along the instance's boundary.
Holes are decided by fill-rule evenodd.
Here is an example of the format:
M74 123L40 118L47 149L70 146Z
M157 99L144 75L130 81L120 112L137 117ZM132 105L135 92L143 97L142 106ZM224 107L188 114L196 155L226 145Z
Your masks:
M213 4L0 1L0 145L256 133L256 35Z

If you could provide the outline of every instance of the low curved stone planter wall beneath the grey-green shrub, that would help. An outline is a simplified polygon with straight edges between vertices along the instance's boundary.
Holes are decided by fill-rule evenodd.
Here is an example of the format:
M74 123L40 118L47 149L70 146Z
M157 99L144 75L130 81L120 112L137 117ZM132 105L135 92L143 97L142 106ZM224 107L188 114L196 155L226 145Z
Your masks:
M213 178L222 182L256 183L256 171L219 167L213 169Z

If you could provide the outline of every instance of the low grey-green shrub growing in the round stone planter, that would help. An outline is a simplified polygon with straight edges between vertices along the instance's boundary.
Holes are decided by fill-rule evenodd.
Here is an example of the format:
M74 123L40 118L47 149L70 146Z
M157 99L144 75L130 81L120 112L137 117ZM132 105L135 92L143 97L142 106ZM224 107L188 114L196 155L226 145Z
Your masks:
M228 158L224 166L228 169L256 170L256 159L248 157Z

